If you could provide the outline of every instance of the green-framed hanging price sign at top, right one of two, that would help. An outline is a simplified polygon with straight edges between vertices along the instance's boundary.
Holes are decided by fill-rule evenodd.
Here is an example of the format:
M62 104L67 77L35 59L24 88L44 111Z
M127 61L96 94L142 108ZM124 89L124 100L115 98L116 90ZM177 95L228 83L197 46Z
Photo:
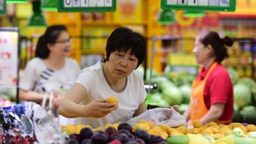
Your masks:
M161 0L161 9L234 12L236 0Z

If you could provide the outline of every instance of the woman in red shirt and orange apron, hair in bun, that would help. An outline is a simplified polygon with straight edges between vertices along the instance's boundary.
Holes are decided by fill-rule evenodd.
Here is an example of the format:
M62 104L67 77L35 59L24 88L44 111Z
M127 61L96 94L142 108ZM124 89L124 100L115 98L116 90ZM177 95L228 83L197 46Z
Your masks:
M232 45L232 39L227 36L220 38L214 31L196 37L193 53L202 68L193 82L189 108L184 114L187 121L192 123L199 119L202 124L231 123L234 113L233 85L221 61L228 57L226 46Z

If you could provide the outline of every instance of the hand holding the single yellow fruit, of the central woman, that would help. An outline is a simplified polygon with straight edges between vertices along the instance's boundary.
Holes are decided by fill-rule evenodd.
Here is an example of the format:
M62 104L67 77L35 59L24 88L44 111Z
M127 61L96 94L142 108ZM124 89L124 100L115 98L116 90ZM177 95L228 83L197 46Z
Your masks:
M94 100L85 106L85 115L87 117L101 118L116 110L118 106L115 103L106 103L106 100Z

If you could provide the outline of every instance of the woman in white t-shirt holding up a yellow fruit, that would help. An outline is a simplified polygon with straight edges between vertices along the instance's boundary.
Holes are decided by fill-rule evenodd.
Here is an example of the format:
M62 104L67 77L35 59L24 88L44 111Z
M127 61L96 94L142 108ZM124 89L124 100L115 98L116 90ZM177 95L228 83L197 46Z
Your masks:
M105 60L85 68L61 101L59 114L93 127L126 122L146 110L146 90L136 70L146 56L146 39L119 27L107 40ZM106 103L114 95L118 106Z

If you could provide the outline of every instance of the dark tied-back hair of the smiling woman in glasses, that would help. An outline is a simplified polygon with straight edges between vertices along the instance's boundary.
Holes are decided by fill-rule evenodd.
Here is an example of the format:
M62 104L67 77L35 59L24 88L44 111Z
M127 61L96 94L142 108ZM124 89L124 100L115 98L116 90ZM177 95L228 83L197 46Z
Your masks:
M55 44L63 31L67 31L67 28L63 25L53 25L47 27L44 35L38 39L36 45L36 57L41 59L48 58L50 50L49 47L47 47L47 44Z

